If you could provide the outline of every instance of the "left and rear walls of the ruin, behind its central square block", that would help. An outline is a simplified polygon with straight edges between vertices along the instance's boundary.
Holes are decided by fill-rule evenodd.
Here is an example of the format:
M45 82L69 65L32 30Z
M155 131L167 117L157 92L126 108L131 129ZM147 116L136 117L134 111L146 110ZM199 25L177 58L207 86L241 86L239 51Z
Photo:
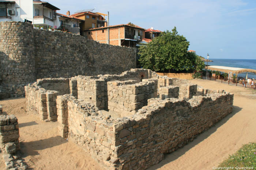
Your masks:
M120 75L75 76L72 78L37 79L25 86L27 112L38 114L41 120L57 120L58 95L71 94L93 103L99 109L108 110L107 83L111 80L151 78L156 73L145 69L131 69Z

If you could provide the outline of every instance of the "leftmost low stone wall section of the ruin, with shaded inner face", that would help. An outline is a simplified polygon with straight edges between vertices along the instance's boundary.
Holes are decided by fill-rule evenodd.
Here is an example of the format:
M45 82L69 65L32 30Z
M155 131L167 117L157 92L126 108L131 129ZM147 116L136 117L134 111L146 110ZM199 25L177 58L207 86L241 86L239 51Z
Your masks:
M44 87L44 88L43 88ZM69 94L69 79L38 79L25 86L27 112L39 114L41 120L57 120L56 99L58 95Z

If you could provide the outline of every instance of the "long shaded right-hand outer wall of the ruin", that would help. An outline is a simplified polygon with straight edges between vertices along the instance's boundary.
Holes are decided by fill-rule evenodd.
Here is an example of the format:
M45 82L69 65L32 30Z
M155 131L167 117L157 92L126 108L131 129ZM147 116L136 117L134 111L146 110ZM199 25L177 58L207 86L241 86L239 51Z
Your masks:
M174 98L149 99L147 106L115 131L116 140L120 141L115 150L120 155L116 167L146 169L160 162L163 154L187 144L231 113L232 105L230 94L194 96L188 102Z

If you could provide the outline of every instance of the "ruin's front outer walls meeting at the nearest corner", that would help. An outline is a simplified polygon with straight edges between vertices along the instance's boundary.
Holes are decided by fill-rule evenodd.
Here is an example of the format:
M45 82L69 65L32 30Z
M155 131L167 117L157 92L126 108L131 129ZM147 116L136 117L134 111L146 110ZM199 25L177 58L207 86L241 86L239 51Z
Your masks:
M57 108L61 136L83 146L107 169L146 169L229 114L233 95L219 91L188 101L152 98L119 119L69 95L57 97Z

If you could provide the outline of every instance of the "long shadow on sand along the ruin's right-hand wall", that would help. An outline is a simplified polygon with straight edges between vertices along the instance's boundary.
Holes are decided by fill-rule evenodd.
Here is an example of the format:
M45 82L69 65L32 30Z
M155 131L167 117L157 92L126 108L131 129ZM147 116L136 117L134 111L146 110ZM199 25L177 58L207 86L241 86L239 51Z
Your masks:
M212 126L210 129L203 131L201 134L199 134L192 142L189 142L187 145L183 146L180 149L177 149L176 151L166 154L165 158L159 162L156 165L151 166L147 170L155 170L158 168L161 168L165 164L172 162L176 159L178 159L181 155L185 154L188 150L190 150L192 147L196 146L198 143L202 142L204 139L208 138L212 133L214 133L219 127L221 127L223 124L227 122L231 117L233 117L237 112L241 111L242 108L238 106L233 106L233 111L227 115L225 118L217 122L214 126ZM175 153L175 154L174 154ZM175 169L175 168L174 168Z

